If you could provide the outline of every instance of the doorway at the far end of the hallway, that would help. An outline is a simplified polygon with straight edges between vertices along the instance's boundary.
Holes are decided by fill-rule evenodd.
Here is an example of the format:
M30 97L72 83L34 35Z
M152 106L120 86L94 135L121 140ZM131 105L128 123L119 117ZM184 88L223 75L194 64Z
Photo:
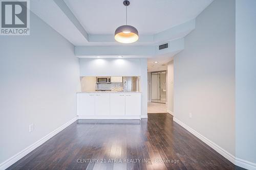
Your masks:
M166 103L166 70L151 72L151 102Z

